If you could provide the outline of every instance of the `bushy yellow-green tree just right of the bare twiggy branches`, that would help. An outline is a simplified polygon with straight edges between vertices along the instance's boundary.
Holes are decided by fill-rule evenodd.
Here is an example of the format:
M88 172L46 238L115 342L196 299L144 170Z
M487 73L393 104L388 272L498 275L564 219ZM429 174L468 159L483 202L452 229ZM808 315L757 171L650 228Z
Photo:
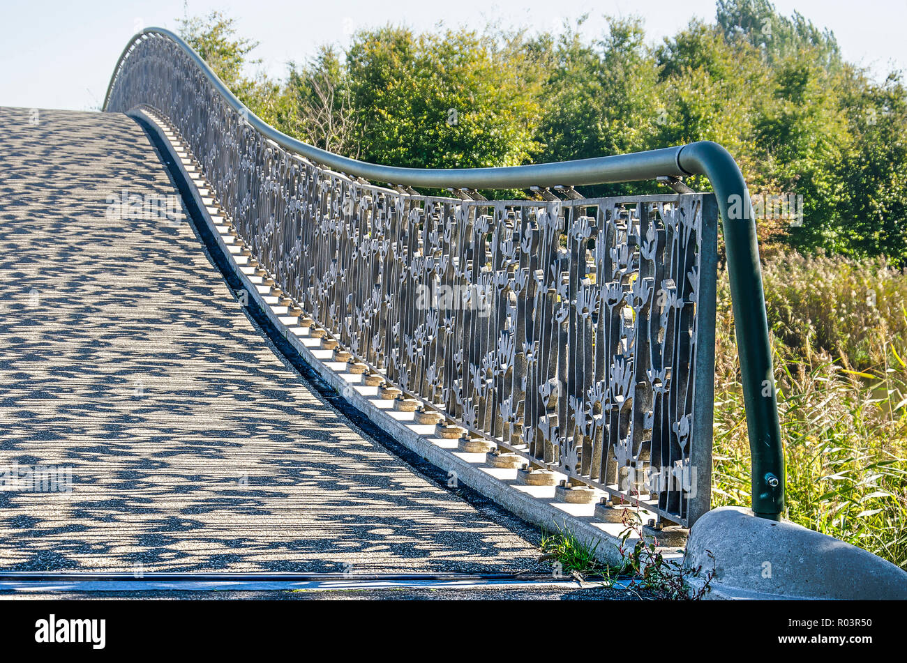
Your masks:
M535 149L537 91L489 34L356 34L347 80L362 158L415 168L522 163Z

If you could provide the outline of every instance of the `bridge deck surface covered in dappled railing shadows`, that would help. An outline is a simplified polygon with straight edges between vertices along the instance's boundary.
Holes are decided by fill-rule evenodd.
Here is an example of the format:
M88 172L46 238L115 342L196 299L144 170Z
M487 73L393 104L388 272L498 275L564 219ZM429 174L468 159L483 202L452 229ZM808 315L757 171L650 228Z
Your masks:
M0 109L0 569L500 571L532 533L350 428L230 293L187 222L107 197L176 192L119 114ZM528 538L527 538L528 537Z

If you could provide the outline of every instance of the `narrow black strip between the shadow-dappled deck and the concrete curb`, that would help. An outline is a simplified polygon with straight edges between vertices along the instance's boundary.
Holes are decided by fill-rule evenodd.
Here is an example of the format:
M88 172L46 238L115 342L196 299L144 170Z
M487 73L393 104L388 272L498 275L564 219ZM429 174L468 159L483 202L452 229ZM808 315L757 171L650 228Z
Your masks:
M161 165L166 168L171 176L173 184L180 191L183 203L189 211L188 220L190 222L190 227L195 232L195 235L199 237L205 255L208 256L211 264L217 267L221 276L223 276L224 281L227 282L230 293L236 297L236 293L245 290L246 286L239 280L239 277L234 274L229 256L225 255L224 252L220 250L217 239L211 233L208 224L205 222L204 216L192 196L191 187L194 185L183 178L180 169L177 168L175 163L172 163L167 158L169 149L158 136L157 131L151 129L144 120L132 115L129 117L132 117L132 120L135 120L139 124L141 129L144 130L145 134L148 136L151 144L154 146L155 151L158 153L158 158L161 159ZM237 301L239 301L239 298L237 298ZM403 460L407 466L410 466L414 470L414 472L428 479L434 485L437 485L443 488L444 491L456 495L463 499L463 501L472 504L480 514L493 523L499 524L512 533L522 536L534 545L540 545L541 530L536 525L512 514L500 504L488 499L468 485L464 485L462 481L458 482L459 485L455 488L447 485L448 476L443 469L434 466L424 457L414 453L409 448L397 442L394 437L385 433L384 430L375 425L375 423L358 408L337 393L336 389L327 384L325 380L322 380L316 370L308 365L307 361L304 360L289 341L283 337L274 324L268 320L268 316L265 312L261 311L258 305L254 305L250 300L249 305L244 306L243 309L245 310L249 321L252 322L258 332L270 341L278 354L278 357L283 360L288 367L297 372L297 375L307 387L321 396L321 398L325 399L343 418L346 418L351 427L359 434L371 439L378 446L384 447L394 456Z

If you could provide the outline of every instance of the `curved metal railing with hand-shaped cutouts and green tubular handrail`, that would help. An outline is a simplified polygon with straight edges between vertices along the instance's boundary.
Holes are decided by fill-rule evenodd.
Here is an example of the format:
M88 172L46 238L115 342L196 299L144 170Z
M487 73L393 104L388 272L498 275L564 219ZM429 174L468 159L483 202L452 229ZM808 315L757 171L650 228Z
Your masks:
M384 376L389 392L621 497L639 487L619 485L621 467L682 474L699 462L710 476L714 209L703 195L592 199L572 187L705 175L724 230L753 509L781 514L784 459L756 225L727 150L697 142L508 168L370 164L275 130L162 28L132 37L104 100L105 111L141 106L179 131L283 293ZM529 187L552 199L463 194ZM566 187L570 199L547 187ZM708 508L701 488L698 501L686 486L653 491L646 505L692 524Z

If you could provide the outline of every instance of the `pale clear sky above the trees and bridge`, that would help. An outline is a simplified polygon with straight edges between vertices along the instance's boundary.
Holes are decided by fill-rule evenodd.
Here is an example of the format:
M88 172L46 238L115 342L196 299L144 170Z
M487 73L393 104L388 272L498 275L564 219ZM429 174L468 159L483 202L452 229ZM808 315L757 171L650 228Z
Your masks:
M490 21L536 30L560 28L589 13L584 32L600 34L602 14L638 14L649 41L674 34L694 17L714 21L714 0L189 0L190 15L219 9L237 19L242 36L260 45L253 55L282 77L289 61L303 62L319 43L345 46L358 27L392 23L431 30L481 27ZM834 31L844 57L876 76L907 69L907 0L777 0ZM176 28L183 0L0 0L0 106L86 110L99 106L113 65L142 26Z

